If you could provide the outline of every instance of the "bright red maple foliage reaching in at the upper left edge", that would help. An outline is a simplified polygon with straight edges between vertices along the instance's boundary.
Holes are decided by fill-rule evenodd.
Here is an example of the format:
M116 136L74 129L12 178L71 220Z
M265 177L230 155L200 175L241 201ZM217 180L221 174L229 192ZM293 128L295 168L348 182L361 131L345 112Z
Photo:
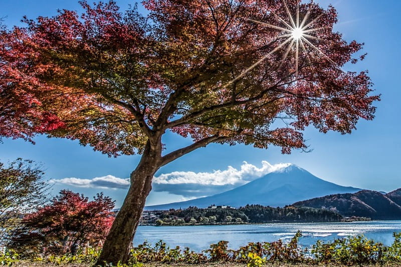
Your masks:
M45 65L33 46L20 42L26 34L24 29L8 32L0 27L0 141L2 136L32 141L35 133L64 124L47 105L51 99L45 101L51 88L36 77Z

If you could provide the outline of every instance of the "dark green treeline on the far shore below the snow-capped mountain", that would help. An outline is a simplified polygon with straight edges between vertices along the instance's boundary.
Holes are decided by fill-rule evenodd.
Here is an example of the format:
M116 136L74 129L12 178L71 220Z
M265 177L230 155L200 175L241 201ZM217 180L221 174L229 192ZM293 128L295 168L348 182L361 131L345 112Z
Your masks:
M236 208L170 209L156 218L157 225L213 224L213 223L265 223L265 222L309 222L340 221L342 216L332 210L312 207L270 207L246 205Z

